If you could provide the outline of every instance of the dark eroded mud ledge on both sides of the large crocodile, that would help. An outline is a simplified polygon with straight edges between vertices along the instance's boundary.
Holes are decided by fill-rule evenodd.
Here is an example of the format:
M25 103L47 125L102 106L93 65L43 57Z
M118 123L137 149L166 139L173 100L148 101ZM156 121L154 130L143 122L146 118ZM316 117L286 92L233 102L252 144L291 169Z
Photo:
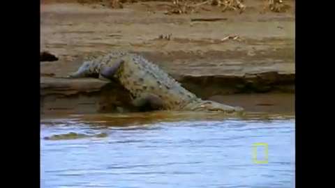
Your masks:
M264 97L262 97L263 99L255 97L256 93L263 93L261 95L276 93L276 96L290 95L291 97L288 100L294 103L294 99L292 99L294 97L292 95L295 93L294 74L281 75L278 72L263 72L248 74L243 77L174 75L174 78L189 91L203 99L225 102L230 105L246 105L248 106L247 109L256 111L271 110L276 100L276 97L272 97L272 102L264 102L262 101ZM244 97L247 100L241 99L241 95L245 93L248 93ZM40 80L40 109L42 114L136 111L130 102L131 96L128 91L114 81L108 82L94 78L59 79L52 77L41 77ZM250 102L253 104L246 104ZM288 102L288 104L292 103ZM258 107L255 108L255 106ZM292 111L292 107L283 110Z

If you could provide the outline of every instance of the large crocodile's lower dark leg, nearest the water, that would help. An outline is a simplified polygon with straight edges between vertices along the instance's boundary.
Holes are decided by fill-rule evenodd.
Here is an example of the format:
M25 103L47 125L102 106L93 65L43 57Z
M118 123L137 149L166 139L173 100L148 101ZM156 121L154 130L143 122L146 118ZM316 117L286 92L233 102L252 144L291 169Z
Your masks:
M133 100L135 107L140 107L142 110L158 110L163 109L163 100L157 95L145 93Z

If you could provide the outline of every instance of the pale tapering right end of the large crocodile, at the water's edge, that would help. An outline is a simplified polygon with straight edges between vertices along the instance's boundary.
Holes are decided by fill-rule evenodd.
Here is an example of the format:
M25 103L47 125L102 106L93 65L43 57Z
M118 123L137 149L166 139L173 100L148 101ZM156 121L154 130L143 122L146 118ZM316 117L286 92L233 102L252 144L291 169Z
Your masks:
M235 113L244 111L241 107L232 107L226 104L221 104L218 102L210 100L201 100L188 104L188 109L192 111L213 111L213 112L225 112L225 113Z

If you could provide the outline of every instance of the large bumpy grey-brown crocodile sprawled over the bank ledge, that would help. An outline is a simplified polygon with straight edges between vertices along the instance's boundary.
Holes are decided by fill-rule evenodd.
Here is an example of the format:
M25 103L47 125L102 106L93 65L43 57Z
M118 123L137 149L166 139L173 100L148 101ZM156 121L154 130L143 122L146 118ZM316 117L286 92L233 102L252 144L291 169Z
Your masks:
M202 100L186 90L158 65L133 52L109 52L88 56L68 78L98 77L117 80L131 93L135 107L168 111L220 111L234 113L244 111L211 100Z

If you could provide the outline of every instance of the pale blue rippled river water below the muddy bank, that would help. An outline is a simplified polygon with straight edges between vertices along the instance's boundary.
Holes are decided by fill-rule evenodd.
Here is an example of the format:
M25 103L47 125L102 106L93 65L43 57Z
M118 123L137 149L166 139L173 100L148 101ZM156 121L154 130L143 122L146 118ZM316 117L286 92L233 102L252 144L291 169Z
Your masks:
M40 130L41 187L295 187L293 115L73 115ZM69 132L107 136L43 139Z

